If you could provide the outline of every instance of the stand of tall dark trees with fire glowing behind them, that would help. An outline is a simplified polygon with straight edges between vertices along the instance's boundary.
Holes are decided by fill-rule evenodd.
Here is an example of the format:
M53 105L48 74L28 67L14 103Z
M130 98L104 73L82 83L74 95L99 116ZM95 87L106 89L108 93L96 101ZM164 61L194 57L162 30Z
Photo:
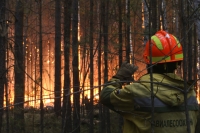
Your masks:
M199 5L200 0L1 0L0 132L3 121L7 133L27 132L25 107L39 103L44 133L48 100L59 131L83 132L85 98L87 132L95 132L96 112L98 132L113 132L111 112L98 103L103 84L124 60L139 66L135 79L143 75L145 43L160 29L183 45L183 77L195 81L198 93ZM120 116L117 123L120 133Z

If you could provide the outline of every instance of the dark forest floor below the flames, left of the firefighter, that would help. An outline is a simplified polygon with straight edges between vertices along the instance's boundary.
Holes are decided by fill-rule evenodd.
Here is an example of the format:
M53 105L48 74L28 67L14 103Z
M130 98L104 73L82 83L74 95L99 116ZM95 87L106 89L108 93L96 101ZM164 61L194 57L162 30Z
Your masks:
M119 121L119 115L115 112L110 113L111 121L115 121L116 123ZM26 110L24 114L25 118L25 133L40 133L41 132L41 120L40 120L40 111L39 110ZM98 110L94 110L94 133L99 133L99 115ZM7 122L6 115L4 113L3 118L3 125L2 125L2 133L11 133L14 132L13 129L13 112L9 111L9 122ZM116 133L119 126L117 124L111 122L111 133ZM112 125L113 124L113 125ZM7 126L9 125L9 127ZM80 126L80 133L88 133L90 131L90 119L89 116L86 114L81 114L81 123L77 125ZM8 128L7 128L8 127ZM59 116L57 117L53 110L46 110L44 114L43 120L43 130L44 133L62 133L62 118Z

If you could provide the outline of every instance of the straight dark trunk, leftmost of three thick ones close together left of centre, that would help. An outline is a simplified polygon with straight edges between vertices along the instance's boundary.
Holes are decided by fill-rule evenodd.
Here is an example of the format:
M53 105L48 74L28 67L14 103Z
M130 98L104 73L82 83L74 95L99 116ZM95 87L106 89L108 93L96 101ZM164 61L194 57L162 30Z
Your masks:
M55 1L55 85L54 111L61 115L61 0Z

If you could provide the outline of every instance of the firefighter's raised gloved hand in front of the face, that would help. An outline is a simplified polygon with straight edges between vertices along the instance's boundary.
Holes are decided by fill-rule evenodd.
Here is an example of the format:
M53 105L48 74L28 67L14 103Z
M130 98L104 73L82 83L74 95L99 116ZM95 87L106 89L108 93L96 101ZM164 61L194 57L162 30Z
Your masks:
M132 75L137 69L138 69L137 66L125 61L122 63L117 74L113 77L120 80L133 80Z

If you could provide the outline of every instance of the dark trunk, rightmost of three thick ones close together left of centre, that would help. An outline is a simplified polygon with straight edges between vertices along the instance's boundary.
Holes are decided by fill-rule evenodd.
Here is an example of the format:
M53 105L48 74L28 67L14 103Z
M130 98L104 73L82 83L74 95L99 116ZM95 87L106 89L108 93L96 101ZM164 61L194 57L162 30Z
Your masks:
M73 130L80 132L80 82L78 60L78 0L72 1Z

